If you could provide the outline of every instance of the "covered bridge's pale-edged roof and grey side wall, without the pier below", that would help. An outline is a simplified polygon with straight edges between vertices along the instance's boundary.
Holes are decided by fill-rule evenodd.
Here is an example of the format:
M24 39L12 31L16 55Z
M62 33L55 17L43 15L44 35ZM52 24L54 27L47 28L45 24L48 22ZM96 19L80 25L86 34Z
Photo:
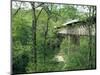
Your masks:
M93 18L91 26L91 35L95 35L95 18ZM89 35L89 28L87 21L80 21L78 19L70 20L62 26L56 27L59 35Z

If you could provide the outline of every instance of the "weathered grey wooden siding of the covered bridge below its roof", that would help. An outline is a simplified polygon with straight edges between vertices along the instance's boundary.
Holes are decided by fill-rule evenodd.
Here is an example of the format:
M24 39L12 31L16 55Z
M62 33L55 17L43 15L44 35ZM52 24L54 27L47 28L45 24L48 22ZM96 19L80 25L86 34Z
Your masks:
M92 35L95 35L95 27L92 27ZM61 28L58 30L59 34L64 34L64 35L89 35L89 29L87 26L81 25L79 27L66 27L66 28Z

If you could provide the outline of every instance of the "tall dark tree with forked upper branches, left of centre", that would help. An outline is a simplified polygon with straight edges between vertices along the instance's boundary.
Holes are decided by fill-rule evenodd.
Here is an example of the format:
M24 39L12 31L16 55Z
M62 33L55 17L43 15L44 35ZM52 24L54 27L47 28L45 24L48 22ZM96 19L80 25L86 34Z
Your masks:
M37 31L37 21L39 18L39 15L42 12L42 9L36 15L36 8L40 7L42 3L38 4L37 6L35 5L35 2L30 2L32 6L32 36L33 36L33 62L35 64L35 70L37 71L37 49L36 49L36 31Z

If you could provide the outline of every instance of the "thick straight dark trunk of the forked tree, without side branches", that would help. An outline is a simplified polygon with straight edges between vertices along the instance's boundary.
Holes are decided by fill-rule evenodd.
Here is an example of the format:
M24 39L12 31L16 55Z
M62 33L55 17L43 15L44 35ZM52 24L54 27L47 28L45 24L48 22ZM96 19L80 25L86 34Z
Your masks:
M37 26L37 20L36 20L36 13L35 13L35 3L31 3L32 6L32 36L33 36L33 63L35 64L35 71L37 71L37 51L36 51L36 26Z

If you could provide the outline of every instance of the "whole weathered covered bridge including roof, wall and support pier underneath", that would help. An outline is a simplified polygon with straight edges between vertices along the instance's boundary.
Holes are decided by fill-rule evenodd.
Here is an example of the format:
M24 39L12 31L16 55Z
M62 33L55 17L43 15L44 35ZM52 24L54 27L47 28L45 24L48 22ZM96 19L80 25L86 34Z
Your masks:
M91 24L91 25L90 25ZM89 34L89 25L91 29L91 34ZM69 39L74 43L80 43L80 36L95 36L96 34L96 17L90 17L86 20L74 19L70 20L59 27L55 27L56 34L59 40L62 40L65 37L69 37ZM62 41L61 41L62 42Z

